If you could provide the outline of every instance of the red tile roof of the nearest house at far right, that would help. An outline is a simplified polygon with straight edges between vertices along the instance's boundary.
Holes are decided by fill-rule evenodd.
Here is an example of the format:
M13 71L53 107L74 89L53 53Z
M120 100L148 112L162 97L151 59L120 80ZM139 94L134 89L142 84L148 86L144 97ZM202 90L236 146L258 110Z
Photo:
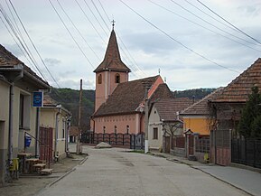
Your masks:
M213 102L246 102L254 86L261 90L261 58L228 84Z

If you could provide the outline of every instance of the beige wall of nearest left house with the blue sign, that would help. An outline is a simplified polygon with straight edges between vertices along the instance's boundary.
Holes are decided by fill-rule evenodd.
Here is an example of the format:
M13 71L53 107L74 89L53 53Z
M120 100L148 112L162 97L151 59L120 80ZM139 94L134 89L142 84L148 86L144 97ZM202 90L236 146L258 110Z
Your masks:
M14 84L13 158L17 157L17 153L24 151L24 133L28 132L35 136L36 108L32 107L32 91L27 90L29 89L28 84L25 85L26 83L21 84L19 81ZM19 127L20 95L24 96L23 127ZM8 158L9 98L10 85L0 81L0 183L5 182L5 165ZM35 140L33 138L31 145L25 149L25 152L35 154Z

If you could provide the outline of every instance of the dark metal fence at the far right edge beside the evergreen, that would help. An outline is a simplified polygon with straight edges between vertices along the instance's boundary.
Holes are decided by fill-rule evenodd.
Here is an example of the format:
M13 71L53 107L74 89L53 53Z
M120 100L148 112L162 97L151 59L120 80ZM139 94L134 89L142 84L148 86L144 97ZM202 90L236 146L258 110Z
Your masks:
M232 139L231 161L261 168L261 139Z

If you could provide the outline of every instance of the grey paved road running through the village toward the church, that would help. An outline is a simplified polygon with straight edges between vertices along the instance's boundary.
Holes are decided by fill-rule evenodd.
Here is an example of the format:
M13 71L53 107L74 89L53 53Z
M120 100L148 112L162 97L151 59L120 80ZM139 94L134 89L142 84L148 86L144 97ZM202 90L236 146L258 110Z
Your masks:
M123 149L84 148L89 159L43 195L232 196L247 195L186 164Z

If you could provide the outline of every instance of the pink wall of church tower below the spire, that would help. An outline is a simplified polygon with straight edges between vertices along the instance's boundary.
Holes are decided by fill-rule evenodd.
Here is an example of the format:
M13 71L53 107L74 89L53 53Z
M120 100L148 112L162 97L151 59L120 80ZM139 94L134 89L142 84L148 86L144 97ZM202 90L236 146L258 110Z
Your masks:
M115 83L115 75L120 75L120 83L128 81L127 72L117 72L117 71L101 71L96 73L96 98L95 98L95 111L101 104L105 103L108 96L112 94L114 89L117 87ZM101 75L102 82L98 84L98 76Z

